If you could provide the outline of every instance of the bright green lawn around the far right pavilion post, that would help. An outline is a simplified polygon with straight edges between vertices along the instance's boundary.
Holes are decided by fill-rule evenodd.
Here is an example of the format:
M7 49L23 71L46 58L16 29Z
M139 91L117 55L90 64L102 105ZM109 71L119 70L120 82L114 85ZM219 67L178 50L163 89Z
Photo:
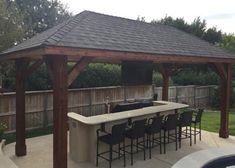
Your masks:
M220 112L204 112L202 114L202 129L210 132L219 132ZM235 135L235 112L229 114L229 134Z

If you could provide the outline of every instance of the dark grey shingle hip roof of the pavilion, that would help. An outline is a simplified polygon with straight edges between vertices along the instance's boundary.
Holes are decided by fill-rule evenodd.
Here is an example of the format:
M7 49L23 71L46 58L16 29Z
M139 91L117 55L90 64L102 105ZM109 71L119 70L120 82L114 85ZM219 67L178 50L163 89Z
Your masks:
M235 58L176 28L84 11L4 53L39 46L107 49L167 55Z

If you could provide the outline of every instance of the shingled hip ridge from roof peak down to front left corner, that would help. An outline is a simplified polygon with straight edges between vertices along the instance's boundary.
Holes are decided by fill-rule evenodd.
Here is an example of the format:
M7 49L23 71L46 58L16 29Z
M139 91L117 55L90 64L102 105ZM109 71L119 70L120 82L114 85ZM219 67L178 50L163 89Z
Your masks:
M79 20L82 21L88 14L89 14L88 11L83 11L83 12L81 12L81 13L75 15L75 16L72 16L71 18L69 18L69 20L64 21L64 22L63 22L63 26L61 26L58 30L56 30L54 33L52 33L52 34L42 43L42 45L44 45L44 44L52 45L52 42L51 42L51 41L54 41L54 42L53 42L53 43L54 43L53 45L56 45L57 43L59 43L59 41L61 40L61 38L63 38L63 35L64 35L64 34L68 33L70 30L72 30L74 27L76 27L77 24L73 24L73 25L71 26L71 24L76 20L76 18L77 18L77 20L76 20L75 22L77 22L77 21L79 21ZM81 16L81 17L78 17L78 16ZM70 27L70 26L71 26L71 27ZM68 29L66 29L67 27L68 27ZM53 38L53 37L56 37L56 39Z

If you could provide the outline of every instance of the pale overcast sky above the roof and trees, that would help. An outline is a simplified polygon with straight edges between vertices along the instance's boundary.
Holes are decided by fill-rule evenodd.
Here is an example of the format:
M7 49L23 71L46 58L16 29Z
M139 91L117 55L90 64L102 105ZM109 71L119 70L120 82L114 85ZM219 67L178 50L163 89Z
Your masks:
M217 27L235 34L235 0L60 0L68 10L78 14L83 10L129 19L145 17L147 22L167 16L183 17L192 22L205 19L207 28Z

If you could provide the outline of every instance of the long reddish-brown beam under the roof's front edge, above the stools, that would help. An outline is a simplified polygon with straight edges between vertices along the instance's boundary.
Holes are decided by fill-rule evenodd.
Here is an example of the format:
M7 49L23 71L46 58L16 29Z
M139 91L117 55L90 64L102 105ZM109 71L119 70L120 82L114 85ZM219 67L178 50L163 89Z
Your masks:
M69 47L47 47L45 54L68 55L68 58L74 57L95 57L106 60L143 60L153 61L155 63L235 63L233 58L216 58L203 56L185 56L185 55L166 55L151 54L140 52L111 51L99 49L85 48L69 48Z

